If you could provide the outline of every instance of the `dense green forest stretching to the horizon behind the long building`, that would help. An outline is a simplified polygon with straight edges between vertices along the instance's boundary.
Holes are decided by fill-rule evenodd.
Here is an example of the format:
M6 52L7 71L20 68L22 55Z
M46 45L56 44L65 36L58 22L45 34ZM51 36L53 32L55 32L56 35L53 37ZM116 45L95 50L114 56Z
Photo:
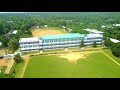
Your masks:
M119 12L51 12L51 13L5 13L0 14L0 42L2 47L9 47L14 52L18 47L18 41L21 37L30 37L32 26L48 25L50 27L65 27L66 31L86 34L85 28L104 31L105 37L111 37L120 40L120 26L113 24L120 23ZM105 27L102 27L102 26ZM10 34L11 30L18 30L17 34ZM12 39L13 38L13 39ZM13 42L16 42L16 46Z

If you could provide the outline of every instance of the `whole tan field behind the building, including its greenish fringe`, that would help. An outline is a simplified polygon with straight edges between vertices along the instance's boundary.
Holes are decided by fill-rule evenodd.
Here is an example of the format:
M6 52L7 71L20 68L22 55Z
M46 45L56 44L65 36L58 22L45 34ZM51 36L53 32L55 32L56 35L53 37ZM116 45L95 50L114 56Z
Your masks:
M62 33L67 33L67 32L65 32L64 29L61 29L58 27L32 29L33 37L39 37L39 36L50 35L50 34L62 34Z

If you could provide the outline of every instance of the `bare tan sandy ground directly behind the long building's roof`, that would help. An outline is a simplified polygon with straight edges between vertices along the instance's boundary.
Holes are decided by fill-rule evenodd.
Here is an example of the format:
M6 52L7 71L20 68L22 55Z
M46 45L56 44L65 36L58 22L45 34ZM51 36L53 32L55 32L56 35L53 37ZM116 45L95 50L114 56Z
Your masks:
M36 29L32 32L33 37L38 37L38 36L44 36L44 35L50 35L50 34L61 34L63 33L62 31L59 30L54 30L54 29Z

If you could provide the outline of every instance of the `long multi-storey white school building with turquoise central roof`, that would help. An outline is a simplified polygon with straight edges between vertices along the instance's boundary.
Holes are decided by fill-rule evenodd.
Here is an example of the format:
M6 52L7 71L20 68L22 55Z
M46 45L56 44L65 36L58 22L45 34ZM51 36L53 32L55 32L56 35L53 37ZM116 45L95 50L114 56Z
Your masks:
M79 47L82 39L84 40L85 45L92 45L94 41L96 41L97 44L101 44L103 40L103 33L70 33L21 38L19 40L19 44L21 51L29 52L46 49Z

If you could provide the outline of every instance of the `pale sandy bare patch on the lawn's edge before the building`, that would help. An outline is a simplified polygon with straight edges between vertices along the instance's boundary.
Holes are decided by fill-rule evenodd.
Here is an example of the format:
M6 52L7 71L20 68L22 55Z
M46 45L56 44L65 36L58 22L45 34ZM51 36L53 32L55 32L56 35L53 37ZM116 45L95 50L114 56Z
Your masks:
M74 62L75 63L80 58L86 58L86 55L82 54L82 53L73 53L73 52L70 52L70 53L66 53L66 54L61 54L61 55L59 55L59 57L60 58L66 58L70 62Z

